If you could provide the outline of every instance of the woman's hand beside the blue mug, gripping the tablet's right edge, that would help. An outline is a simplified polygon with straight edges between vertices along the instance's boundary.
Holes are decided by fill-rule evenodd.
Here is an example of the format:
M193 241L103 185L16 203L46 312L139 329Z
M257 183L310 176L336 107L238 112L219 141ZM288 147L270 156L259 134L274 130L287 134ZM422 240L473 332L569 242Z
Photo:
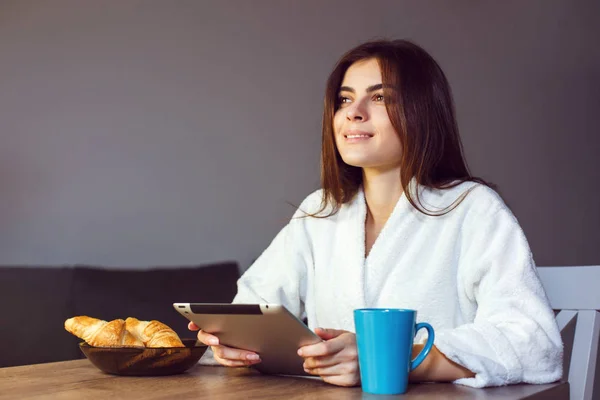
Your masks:
M333 385L360 384L356 335L323 328L317 328L315 333L324 341L298 349L298 355L304 358L304 370Z

